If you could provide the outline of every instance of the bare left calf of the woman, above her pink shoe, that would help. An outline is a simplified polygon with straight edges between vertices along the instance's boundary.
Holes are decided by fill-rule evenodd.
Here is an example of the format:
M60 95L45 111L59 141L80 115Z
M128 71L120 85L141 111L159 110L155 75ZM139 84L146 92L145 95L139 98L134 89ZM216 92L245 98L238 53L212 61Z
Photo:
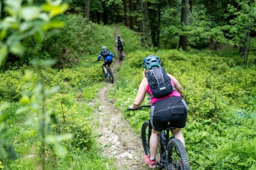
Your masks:
M150 140L149 140L150 158L151 159L156 158L157 148L158 148L159 141L160 141L160 134L161 134L161 132L158 132L158 131L152 129L152 133L151 133Z

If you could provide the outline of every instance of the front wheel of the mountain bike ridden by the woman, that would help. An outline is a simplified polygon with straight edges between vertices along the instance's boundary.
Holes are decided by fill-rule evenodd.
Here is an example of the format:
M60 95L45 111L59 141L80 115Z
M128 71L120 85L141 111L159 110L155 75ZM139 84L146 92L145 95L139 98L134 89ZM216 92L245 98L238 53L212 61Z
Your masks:
M145 121L141 127L141 140L142 140L142 145L145 151L146 155L150 155L149 152L149 139L151 136L151 131L148 130L149 128L149 122Z

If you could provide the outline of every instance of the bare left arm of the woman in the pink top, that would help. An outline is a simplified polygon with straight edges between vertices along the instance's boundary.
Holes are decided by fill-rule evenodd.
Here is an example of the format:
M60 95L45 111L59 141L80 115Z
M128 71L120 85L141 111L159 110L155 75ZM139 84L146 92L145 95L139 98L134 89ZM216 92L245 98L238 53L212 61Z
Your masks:
M146 94L146 89L145 89L145 87L147 87L146 83L147 83L146 79L144 78L140 83L140 86L139 86L139 89L137 92L137 96L134 99L134 103L131 107L132 109L138 108L140 106L140 104L143 102L143 100L145 98L145 94Z

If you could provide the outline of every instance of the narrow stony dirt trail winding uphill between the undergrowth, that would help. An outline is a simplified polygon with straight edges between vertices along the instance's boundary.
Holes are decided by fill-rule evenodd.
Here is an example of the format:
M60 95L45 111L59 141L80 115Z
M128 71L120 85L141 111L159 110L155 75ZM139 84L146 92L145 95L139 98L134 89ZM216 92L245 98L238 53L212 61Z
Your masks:
M118 34L118 29L116 34ZM117 50L114 52L117 56ZM114 69L122 62L118 57L114 58L112 71L114 80L118 77ZM115 82L114 82L115 83ZM107 83L98 93L100 105L96 111L99 127L97 142L102 144L102 154L110 158L116 158L115 166L118 170L148 170L144 163L144 151L139 134L134 134L127 120L123 119L122 113L114 108L114 103L108 100L108 89L114 84Z

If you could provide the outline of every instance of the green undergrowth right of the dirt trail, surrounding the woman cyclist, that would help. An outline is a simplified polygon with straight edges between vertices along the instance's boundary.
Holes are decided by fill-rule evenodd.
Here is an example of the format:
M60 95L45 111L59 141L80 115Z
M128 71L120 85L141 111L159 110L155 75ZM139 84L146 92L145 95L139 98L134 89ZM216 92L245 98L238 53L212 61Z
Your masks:
M189 105L183 134L192 169L253 170L256 167L256 65L238 64L234 57L219 57L209 51L129 53L110 97L137 133L148 119L149 111L125 112L125 109L137 94L143 78L141 64L150 54L159 56L166 71L183 86L184 99Z

